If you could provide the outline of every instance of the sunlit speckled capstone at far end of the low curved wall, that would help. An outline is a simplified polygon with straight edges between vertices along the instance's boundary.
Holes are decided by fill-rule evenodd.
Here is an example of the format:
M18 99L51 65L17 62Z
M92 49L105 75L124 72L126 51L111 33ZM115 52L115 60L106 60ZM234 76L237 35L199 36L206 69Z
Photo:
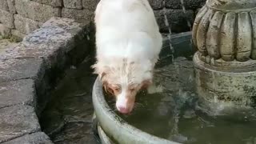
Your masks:
M51 60L46 62L56 62L56 50L62 47L62 52L65 54L72 50L74 46L78 45L84 39L84 26L80 23L74 22L74 19L68 18L51 18L42 28L34 30L23 38L18 46L0 53L0 60L14 59L14 58L47 58ZM85 42L85 41L84 41Z

